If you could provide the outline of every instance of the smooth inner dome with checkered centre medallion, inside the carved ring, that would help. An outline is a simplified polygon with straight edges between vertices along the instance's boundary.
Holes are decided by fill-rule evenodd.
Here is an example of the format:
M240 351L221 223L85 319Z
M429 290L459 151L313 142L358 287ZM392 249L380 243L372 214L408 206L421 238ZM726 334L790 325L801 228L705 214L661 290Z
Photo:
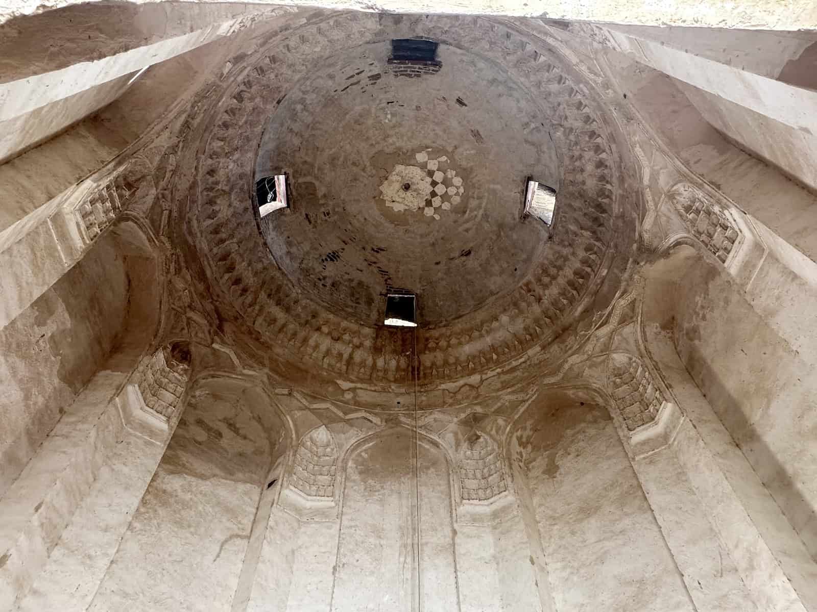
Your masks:
M542 108L501 67L440 45L441 66L403 72L388 42L334 55L288 91L261 140L256 179L287 172L292 214L261 228L311 299L382 322L412 290L424 325L507 295L547 228L522 223L525 178L557 184Z

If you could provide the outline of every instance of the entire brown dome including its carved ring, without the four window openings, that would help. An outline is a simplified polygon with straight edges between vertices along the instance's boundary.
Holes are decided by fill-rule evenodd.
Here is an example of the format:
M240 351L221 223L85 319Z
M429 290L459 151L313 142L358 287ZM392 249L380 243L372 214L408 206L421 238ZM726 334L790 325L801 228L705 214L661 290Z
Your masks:
M439 67L389 63L415 37ZM574 64L481 18L270 35L190 116L184 223L221 316L276 359L376 384L413 376L415 341L426 386L555 346L609 307L636 235L615 123ZM255 180L282 171L290 209L258 220ZM550 235L521 214L528 176L559 188ZM394 289L418 295L416 337L381 325Z

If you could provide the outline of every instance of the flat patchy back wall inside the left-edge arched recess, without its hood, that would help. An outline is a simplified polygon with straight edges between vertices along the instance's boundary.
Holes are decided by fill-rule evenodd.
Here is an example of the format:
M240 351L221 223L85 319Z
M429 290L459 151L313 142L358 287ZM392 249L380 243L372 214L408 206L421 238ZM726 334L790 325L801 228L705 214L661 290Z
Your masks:
M0 494L114 348L128 282L114 240L100 240L0 330Z

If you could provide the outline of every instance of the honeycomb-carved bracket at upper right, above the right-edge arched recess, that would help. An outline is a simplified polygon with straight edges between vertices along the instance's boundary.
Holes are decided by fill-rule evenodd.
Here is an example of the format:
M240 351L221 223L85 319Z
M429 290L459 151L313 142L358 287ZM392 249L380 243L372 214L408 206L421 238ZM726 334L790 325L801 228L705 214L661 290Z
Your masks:
M690 233L725 264L741 235L729 211L689 183L679 183L667 197Z

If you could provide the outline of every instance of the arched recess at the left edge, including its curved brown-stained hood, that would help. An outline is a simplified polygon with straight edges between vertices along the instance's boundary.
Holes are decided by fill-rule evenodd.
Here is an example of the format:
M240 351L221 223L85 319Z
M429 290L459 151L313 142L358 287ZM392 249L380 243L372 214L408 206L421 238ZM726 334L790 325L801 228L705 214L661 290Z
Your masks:
M132 369L153 338L151 242L136 224L118 224L0 330L0 496L94 375Z

